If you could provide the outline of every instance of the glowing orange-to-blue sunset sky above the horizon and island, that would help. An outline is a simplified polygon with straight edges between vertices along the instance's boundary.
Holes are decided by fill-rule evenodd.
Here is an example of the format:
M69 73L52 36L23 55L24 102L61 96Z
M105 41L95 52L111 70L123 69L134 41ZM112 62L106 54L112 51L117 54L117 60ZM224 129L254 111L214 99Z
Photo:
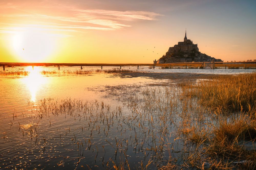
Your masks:
M201 53L256 59L255 8L255 0L1 0L0 62L153 63L185 29Z

